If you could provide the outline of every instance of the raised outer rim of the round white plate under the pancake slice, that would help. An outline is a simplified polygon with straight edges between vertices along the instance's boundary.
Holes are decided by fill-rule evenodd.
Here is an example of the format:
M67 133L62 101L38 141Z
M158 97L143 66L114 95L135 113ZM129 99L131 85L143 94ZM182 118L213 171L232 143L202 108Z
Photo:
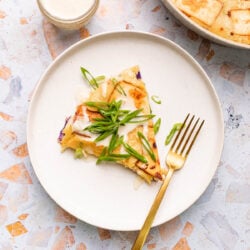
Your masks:
M220 162L220 159L221 159L222 151L223 151L223 146L224 146L224 137L225 137L225 135L224 135L224 118L223 118L223 112L222 112L222 105L221 105L221 102L220 102L219 97L217 95L217 92L215 90L215 87L213 86L212 81L210 80L210 78L208 77L207 73L202 68L202 66L196 61L196 59L191 54L189 54L186 50L184 50L180 45L176 44L175 42L173 42L173 41L171 41L171 40L169 40L169 39L167 39L165 37L162 37L162 36L159 36L159 35L156 35L156 34L152 34L152 33L149 33L149 32L143 32L143 31L128 31L128 30L102 32L102 33L93 35L93 36L88 37L88 38L86 38L84 40L80 40L80 41L74 43L69 48L67 48L66 50L64 50L58 57L56 57L56 59L54 59L53 61L50 62L50 64L47 66L47 68L41 74L38 82L36 83L36 86L35 86L35 88L33 90L32 97L31 97L31 100L30 100L30 103L29 103L29 107L28 107L27 124L26 124L27 147L28 147L29 152L31 152L32 151L32 150L30 150L31 136L30 136L30 132L29 132L30 129L29 128L30 128L30 123L31 123L30 121L31 121L31 114L32 114L31 110L32 110L32 106L33 106L32 104L35 102L35 97L37 96L37 94L39 94L39 88L40 88L40 86L43 85L43 81L46 78L46 75L51 70L51 68L54 66L54 64L56 64L58 61L60 61L61 58L63 58L65 56L65 54L70 53L71 50L74 50L77 46L80 46L81 44L87 43L87 42L89 42L91 40L98 39L100 37L113 36L113 35L122 35L122 34L127 34L127 35L133 34L133 35L139 35L139 36L147 36L147 37L149 37L151 39L153 38L153 39L156 39L156 40L159 39L162 42L167 43L169 46L172 46L174 49L176 49L183 56L185 56L189 60L191 60L191 62L193 64L195 64L197 70L199 70L202 73L202 76L204 78L206 78L207 86L209 87L209 89L211 91L211 95L213 96L213 98L214 98L217 106L219 107L219 110L217 110L217 112L218 112L219 117L220 117L219 123L221 125L220 126L221 127L221 141L220 141L219 146L218 146L218 149L219 149L218 160L217 160L217 163L214 166L213 173L211 173L211 176L209 176L209 178L207 178L206 185L203 185L203 189L201 190L199 196L197 196L188 206L183 207L183 209L181 209L180 212L177 215L172 216L171 218L169 218L167 220L163 219L163 220L159 221L157 224L153 223L152 227L156 227L156 226L159 226L159 225L161 225L161 224L163 224L163 223L165 223L167 221L170 221L173 218L175 218L176 216L182 214L184 211L186 211L188 208L190 208L200 198L200 196L205 192L205 190L207 189L207 187L211 183L211 180L212 180L213 176L215 175L215 173L217 171L217 168L218 168L218 165L219 165L219 162ZM92 226L95 226L95 227L102 227L102 228L105 228L105 229L108 229L108 230L115 230L115 231L136 231L136 230L140 229L140 227L138 227L138 226L133 226L133 227L130 227L130 228L124 228L124 227L121 228L121 227L117 227L117 226L109 227L109 226L98 225L98 223L94 223L94 221L83 220L82 218L79 218L79 216L72 214L70 211L68 211L67 208L64 208L64 206L61 205L60 202L58 202L48 192L48 190L46 188L46 185L44 185L44 183L39 178L39 175L37 173L36 167L34 167L33 162L35 162L35 161L34 161L34 158L32 159L32 155L31 154L29 154L29 160L30 160L30 163L32 165L32 168L34 170L34 173L35 173L35 175L36 175L39 183L41 184L42 188L46 191L46 193L48 194L48 196L57 205L59 205L60 207L62 207L65 211L67 211L69 214L71 214L74 217L76 217L78 220L80 220L82 222L85 222L85 223L88 223L89 225L92 225Z

